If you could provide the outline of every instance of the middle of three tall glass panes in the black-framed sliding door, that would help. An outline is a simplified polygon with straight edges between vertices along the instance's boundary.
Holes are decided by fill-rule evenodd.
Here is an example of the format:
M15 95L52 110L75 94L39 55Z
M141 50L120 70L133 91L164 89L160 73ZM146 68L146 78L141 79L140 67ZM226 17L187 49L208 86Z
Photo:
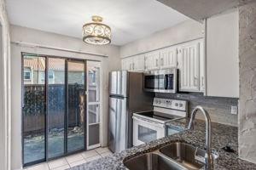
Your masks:
M49 58L48 83L48 156L51 158L64 154L65 59Z

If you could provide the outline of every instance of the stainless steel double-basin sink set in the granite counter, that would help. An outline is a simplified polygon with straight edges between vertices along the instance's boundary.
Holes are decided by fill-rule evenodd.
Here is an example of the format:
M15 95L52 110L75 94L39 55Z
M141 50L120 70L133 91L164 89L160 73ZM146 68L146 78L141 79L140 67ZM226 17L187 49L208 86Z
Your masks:
M206 150L201 150L184 142L175 142L159 150L125 160L130 170L192 170L204 167ZM217 159L217 154L212 154Z

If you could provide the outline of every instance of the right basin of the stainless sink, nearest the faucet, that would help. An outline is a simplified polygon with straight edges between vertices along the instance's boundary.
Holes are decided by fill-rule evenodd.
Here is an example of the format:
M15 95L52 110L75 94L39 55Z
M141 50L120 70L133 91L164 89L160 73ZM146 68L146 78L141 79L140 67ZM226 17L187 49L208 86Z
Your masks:
M160 153L172 158L189 169L200 169L204 167L205 164L204 156L206 150L201 150L183 142L168 144L160 149ZM212 154L212 157L216 159L218 155Z

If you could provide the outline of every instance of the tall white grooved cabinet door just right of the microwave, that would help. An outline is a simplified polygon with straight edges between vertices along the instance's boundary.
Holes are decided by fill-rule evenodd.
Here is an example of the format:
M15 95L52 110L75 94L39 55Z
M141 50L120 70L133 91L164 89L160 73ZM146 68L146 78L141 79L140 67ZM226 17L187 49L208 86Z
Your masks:
M179 90L199 92L199 42L178 48Z

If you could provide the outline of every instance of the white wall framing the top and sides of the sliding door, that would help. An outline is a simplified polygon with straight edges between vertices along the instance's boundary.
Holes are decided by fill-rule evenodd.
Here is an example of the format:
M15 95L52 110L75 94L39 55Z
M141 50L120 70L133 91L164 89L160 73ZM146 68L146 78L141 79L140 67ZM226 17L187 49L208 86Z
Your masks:
M11 26L12 42L31 42L54 46L58 48L68 48L81 50L91 54L105 54L108 58L96 57L85 54L73 54L69 52L57 51L43 48L20 47L11 45L11 68L12 68L12 169L21 167L21 54L20 52L49 54L79 59L96 59L102 61L102 111L103 111L103 133L102 144L107 144L108 135L108 72L120 69L119 47L92 46L82 42L81 39L61 36L45 31L37 31L20 26Z

